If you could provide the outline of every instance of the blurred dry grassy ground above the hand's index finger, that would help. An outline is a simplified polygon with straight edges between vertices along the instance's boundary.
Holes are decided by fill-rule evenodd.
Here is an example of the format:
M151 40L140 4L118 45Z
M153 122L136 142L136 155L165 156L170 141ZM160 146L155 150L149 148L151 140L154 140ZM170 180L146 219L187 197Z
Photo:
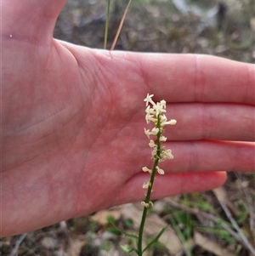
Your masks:
M126 1L111 0L109 47ZM133 0L116 49L139 52L199 53L253 62L254 0ZM102 48L106 1L69 1L54 36Z

